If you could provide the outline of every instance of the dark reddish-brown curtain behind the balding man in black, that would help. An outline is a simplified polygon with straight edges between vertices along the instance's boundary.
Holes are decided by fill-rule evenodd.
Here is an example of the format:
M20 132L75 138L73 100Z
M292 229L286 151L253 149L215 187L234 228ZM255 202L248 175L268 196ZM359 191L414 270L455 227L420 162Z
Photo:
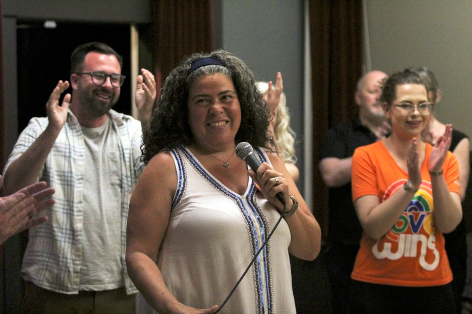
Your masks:
M313 211L328 233L328 193L318 169L324 133L357 114L356 82L362 75L362 0L310 0L313 99Z

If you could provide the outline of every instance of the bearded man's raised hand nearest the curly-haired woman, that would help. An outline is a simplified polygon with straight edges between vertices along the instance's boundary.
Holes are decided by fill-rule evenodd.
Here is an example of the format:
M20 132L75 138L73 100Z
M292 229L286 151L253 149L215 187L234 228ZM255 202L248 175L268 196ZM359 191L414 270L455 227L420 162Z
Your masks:
M151 115L152 107L156 101L156 81L152 73L141 69L142 75L138 75L136 82L136 107L138 108L139 120L147 123Z

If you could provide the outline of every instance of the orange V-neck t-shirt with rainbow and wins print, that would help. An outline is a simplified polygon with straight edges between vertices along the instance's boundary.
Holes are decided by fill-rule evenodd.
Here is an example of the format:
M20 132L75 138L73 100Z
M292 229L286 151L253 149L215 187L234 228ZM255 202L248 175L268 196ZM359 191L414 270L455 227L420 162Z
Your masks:
M354 280L392 286L440 286L452 280L442 232L435 228L429 156L426 144L420 171L422 183L397 223L379 240L363 232L351 277ZM459 166L448 152L442 165L449 191L460 194ZM352 165L354 201L364 195L387 200L408 180L383 142L359 147Z

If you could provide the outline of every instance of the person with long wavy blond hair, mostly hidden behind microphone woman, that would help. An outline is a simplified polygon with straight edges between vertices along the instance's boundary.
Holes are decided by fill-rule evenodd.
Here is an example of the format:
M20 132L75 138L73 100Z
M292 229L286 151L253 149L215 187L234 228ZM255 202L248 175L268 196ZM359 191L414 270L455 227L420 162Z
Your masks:
M280 156L285 160L285 167L296 183L300 172L296 166L295 132L290 128L290 112L283 92L282 74L277 73L275 86L272 81L260 81L257 82L257 87L270 110L269 130L273 132Z

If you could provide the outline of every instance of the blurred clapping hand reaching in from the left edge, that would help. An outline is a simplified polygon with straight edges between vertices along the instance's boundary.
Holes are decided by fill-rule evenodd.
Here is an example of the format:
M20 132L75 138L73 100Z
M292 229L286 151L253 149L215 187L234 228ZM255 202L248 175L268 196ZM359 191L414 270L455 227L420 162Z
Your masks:
M1 176L0 176L1 186ZM33 183L7 197L0 198L0 244L10 236L48 220L46 216L33 217L51 207L54 188L45 182Z

